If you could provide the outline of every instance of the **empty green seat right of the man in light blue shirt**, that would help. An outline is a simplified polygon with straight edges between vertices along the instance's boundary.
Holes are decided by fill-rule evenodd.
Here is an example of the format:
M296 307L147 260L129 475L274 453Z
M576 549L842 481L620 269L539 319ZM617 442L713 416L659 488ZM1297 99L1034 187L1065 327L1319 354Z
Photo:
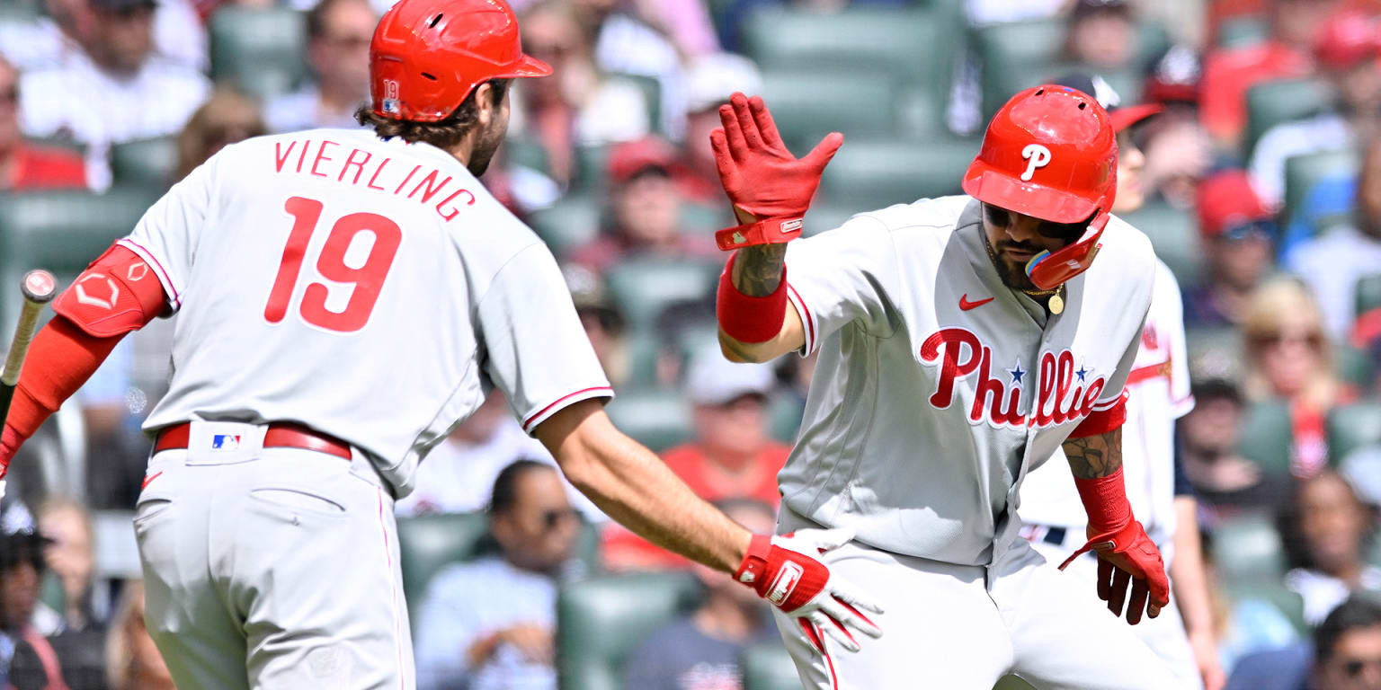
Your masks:
M563 690L624 690L623 665L644 638L700 596L690 573L632 573L569 584L557 599L557 673Z

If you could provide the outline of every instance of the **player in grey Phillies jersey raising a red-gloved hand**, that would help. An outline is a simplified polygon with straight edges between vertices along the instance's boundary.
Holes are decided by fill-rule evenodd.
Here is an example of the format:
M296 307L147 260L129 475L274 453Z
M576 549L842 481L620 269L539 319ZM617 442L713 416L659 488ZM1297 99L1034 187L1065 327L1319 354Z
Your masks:
M1041 86L1004 105L967 196L855 215L797 239L831 134L797 160L760 98L736 94L711 135L743 225L720 282L731 359L819 352L782 471L779 531L856 530L824 555L887 599L888 636L859 654L778 617L812 689L1167 689L1174 676L1116 617L1021 538L1030 468L1063 448L1088 513L1097 592L1137 624L1168 603L1160 555L1123 487L1123 386L1155 254L1113 218L1108 113ZM1130 598L1128 598L1130 584Z

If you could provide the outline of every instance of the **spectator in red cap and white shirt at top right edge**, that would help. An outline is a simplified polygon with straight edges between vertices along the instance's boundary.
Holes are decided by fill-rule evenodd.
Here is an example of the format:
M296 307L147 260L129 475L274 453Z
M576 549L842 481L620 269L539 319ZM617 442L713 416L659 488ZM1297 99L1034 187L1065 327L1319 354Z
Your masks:
M1381 26L1362 11L1338 12L1315 40L1320 72L1338 98L1331 108L1305 120L1268 130L1251 152L1251 179L1261 197L1279 208L1286 193L1286 160L1337 150L1375 132L1381 117Z

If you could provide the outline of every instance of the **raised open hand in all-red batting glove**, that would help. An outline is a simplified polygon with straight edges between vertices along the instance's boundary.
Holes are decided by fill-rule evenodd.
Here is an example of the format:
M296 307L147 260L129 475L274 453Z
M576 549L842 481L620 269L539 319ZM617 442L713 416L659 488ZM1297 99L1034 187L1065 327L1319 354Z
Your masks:
M735 208L757 219L805 215L844 135L831 132L797 159L782 142L762 98L743 94L733 94L728 105L720 106L720 121L724 127L710 132L710 146Z

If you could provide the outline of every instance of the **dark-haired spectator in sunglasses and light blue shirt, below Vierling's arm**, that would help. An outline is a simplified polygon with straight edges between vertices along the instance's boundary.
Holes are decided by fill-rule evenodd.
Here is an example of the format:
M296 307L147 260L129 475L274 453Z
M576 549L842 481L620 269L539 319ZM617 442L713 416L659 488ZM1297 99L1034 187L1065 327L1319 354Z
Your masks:
M519 460L499 473L489 504L499 553L447 566L427 586L418 689L555 690L557 585L579 526L554 466Z

